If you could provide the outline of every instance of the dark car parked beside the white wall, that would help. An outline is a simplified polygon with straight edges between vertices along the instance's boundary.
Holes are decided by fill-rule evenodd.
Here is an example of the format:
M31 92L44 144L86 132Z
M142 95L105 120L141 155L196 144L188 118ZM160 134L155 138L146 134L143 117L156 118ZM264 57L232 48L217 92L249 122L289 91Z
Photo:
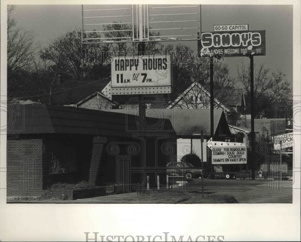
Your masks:
M199 178L202 176L202 168L194 167L189 162L177 161L169 162L167 165L168 174L184 176L186 179ZM205 176L204 176L205 177Z

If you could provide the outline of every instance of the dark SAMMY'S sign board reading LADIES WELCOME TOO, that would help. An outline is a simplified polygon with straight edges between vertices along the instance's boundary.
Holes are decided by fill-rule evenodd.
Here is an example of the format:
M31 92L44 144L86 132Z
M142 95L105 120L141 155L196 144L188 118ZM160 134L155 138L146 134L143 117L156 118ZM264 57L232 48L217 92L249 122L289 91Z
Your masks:
M265 55L265 30L204 32L197 50L201 57Z

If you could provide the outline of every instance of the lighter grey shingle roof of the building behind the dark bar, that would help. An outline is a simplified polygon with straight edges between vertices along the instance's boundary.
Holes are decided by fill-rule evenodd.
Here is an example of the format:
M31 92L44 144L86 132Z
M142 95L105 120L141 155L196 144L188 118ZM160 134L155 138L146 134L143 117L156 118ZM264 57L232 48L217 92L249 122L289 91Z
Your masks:
M130 109L105 111L138 115L138 110ZM219 122L227 123L227 120L222 109L214 109L213 115L214 133L216 134ZM210 109L146 109L146 116L168 118L178 137L190 137L193 133L200 133L200 130L203 130L207 137L210 136ZM229 128L224 131L231 134Z

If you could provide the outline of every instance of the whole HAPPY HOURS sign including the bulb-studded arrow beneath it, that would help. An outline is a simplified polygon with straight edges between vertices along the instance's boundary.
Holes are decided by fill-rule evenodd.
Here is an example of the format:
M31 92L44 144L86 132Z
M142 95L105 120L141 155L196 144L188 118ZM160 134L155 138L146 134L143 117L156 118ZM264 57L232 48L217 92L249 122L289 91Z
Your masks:
M170 55L112 57L111 82L102 90L112 95L171 93L172 64Z

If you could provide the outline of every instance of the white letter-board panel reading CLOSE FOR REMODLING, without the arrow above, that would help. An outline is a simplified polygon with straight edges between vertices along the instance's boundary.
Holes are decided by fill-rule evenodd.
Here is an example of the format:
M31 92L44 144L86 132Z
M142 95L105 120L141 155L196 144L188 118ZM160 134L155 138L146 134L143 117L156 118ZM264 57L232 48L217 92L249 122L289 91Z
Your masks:
M246 163L247 146L215 146L212 148L212 165Z

